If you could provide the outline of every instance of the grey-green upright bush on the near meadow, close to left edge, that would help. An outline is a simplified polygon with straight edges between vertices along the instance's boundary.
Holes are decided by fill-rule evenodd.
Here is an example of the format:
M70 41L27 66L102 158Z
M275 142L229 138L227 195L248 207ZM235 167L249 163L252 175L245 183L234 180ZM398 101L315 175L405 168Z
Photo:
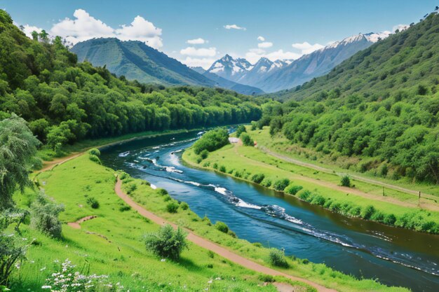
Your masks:
M55 204L46 195L40 193L31 205L31 226L44 234L61 237L62 224L58 218L64 211L62 204Z

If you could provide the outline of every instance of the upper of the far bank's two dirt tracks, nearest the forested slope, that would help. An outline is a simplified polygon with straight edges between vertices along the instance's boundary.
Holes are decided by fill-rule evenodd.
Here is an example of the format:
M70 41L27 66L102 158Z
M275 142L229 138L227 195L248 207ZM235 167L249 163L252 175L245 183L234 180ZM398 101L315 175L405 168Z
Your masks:
M320 167L318 165L313 165L312 163L303 162L303 161L297 160L295 158L290 158L290 157L288 157L286 155L282 155L280 153L271 151L271 150L269 150L268 148L266 148L264 146L259 146L259 149L261 149L263 152L265 152L268 155L271 155L273 157L279 158L281 160L285 160L287 162L294 163L295 165L300 165L300 166L303 166L303 167L308 167L308 168L311 168L311 169L316 169L319 172L326 172L326 173L329 173L329 174L334 174L334 172L332 172L332 169L325 168L325 167ZM335 174L337 174L338 176L345 176L345 175L347 175L346 173L343 173L343 172L335 172ZM393 190L399 190L400 192L411 194L411 195L419 195L419 190L411 190L409 188L403 188L401 186L395 186L395 185L393 185L391 183L384 183L382 181L377 181L375 179L368 179L366 177L358 176L358 175L355 175L355 174L349 174L349 176L351 176L353 179L356 179L357 181L363 181L365 183L372 183L372 184L374 184L376 186L384 186L385 188L391 188ZM431 195L431 194L422 193L421 195L423 195L424 197L430 197L432 199L437 199L437 197L435 197L434 195Z

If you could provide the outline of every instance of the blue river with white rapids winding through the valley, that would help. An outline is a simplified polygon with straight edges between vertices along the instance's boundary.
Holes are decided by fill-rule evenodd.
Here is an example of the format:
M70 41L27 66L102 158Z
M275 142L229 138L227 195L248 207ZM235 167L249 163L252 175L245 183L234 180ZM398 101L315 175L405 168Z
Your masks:
M412 291L439 291L439 236L346 218L296 197L187 167L184 148L199 133L166 135L111 146L102 163L166 188L198 216L223 221L238 237L285 249L346 274Z

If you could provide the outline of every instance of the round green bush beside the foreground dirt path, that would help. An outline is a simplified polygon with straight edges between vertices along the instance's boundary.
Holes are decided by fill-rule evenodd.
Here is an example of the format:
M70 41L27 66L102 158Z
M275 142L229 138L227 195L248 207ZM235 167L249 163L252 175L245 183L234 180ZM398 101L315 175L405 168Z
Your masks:
M177 230L166 224L156 233L145 236L145 245L149 251L163 258L178 260L183 249L187 249L187 234L179 227Z

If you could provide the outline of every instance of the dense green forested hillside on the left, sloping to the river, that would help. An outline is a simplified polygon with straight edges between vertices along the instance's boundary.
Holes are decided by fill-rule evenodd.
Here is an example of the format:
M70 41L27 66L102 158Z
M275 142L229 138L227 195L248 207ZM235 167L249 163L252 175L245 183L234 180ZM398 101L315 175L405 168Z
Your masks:
M222 89L116 78L78 63L59 37L27 38L0 10L0 120L16 113L53 148L85 137L249 122L261 116L257 102Z

